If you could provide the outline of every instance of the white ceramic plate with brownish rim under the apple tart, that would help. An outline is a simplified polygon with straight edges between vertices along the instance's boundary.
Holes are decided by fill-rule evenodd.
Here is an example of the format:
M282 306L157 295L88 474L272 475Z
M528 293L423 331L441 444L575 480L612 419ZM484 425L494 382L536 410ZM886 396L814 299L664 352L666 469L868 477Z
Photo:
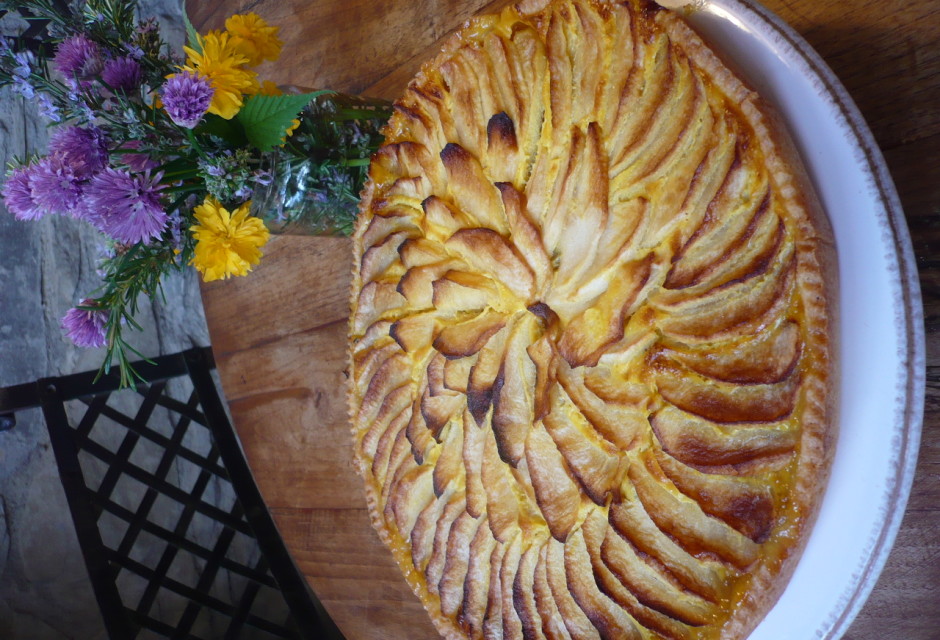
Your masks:
M838 638L871 592L910 493L924 405L917 269L901 205L861 114L819 55L750 0L704 0L693 26L790 127L839 262L839 438L819 520L751 640Z

